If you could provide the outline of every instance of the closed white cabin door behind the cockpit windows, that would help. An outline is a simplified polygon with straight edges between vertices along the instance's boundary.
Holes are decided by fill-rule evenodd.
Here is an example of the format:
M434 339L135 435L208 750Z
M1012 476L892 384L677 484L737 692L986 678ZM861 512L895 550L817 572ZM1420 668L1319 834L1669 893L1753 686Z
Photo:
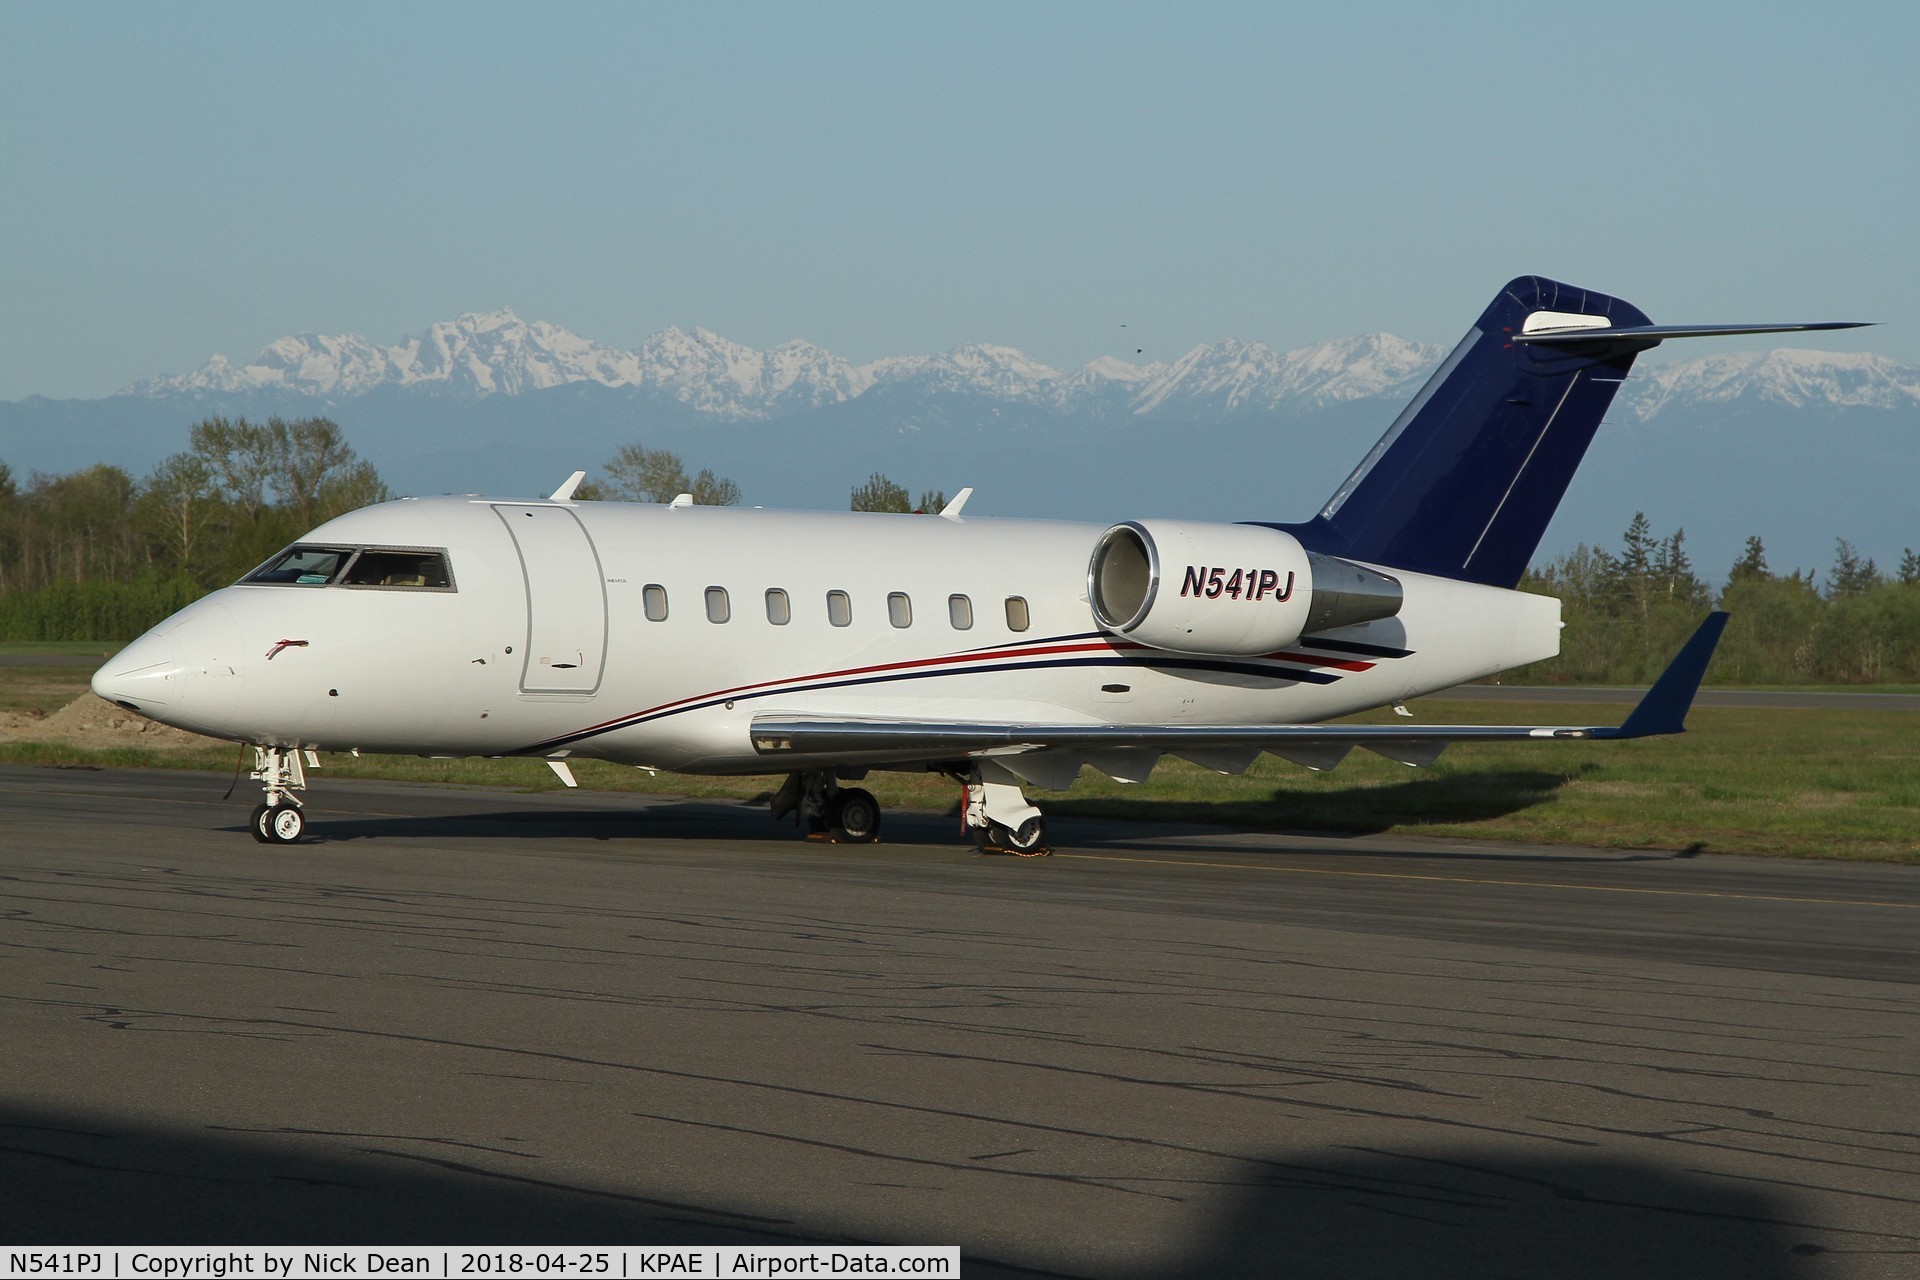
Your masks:
M593 539L564 507L499 503L493 512L526 580L520 693L593 693L607 666L607 580Z

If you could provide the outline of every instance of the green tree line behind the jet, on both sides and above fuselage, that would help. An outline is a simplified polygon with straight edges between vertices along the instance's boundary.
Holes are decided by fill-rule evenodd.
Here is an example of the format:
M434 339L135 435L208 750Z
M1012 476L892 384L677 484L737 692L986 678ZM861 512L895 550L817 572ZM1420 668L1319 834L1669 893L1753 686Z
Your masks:
M672 451L620 447L582 501L732 507L739 486L689 474ZM0 641L131 639L332 516L392 497L328 418L205 418L146 476L98 464L25 482L0 462ZM945 493L874 472L852 510L937 512ZM1732 612L1709 679L1722 683L1920 681L1920 555L1882 570L1845 539L1826 580L1774 572L1749 537L1720 585L1636 512L1617 549L1580 545L1536 566L1523 591L1559 597L1561 654L1519 681L1644 683L1707 608Z

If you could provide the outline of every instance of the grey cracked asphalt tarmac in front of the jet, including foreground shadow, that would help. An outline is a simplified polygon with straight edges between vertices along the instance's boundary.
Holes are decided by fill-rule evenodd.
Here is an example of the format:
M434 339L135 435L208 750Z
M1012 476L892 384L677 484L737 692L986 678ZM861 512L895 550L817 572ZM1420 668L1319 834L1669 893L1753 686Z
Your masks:
M0 1242L1920 1268L1920 867L225 787L0 768Z

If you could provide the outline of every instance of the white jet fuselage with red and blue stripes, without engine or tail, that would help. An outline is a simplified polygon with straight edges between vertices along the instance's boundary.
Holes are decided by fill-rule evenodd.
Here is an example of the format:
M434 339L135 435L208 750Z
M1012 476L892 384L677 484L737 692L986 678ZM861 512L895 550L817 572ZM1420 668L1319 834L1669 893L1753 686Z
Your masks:
M749 743L762 712L1321 722L1559 647L1557 601L1396 572L1405 601L1394 618L1258 656L1148 649L1102 631L1089 608L1089 557L1104 530L405 499L300 545L440 551L445 587L225 587L115 658L104 691L167 723L257 745L762 773L770 766ZM1185 568L1171 568L1169 591ZM1223 570L1208 606L1269 606L1252 599L1260 566L1198 568ZM1246 585L1227 593L1240 570Z

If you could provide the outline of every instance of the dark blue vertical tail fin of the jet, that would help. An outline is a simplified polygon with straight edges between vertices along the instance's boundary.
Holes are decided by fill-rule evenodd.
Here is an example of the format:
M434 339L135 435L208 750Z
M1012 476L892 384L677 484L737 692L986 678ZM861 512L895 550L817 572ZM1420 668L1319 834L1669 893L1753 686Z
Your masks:
M1350 560L1519 583L1634 355L1659 342L1620 330L1645 324L1619 297L1511 280L1319 516L1283 528ZM1557 342L1523 340L1544 334Z

